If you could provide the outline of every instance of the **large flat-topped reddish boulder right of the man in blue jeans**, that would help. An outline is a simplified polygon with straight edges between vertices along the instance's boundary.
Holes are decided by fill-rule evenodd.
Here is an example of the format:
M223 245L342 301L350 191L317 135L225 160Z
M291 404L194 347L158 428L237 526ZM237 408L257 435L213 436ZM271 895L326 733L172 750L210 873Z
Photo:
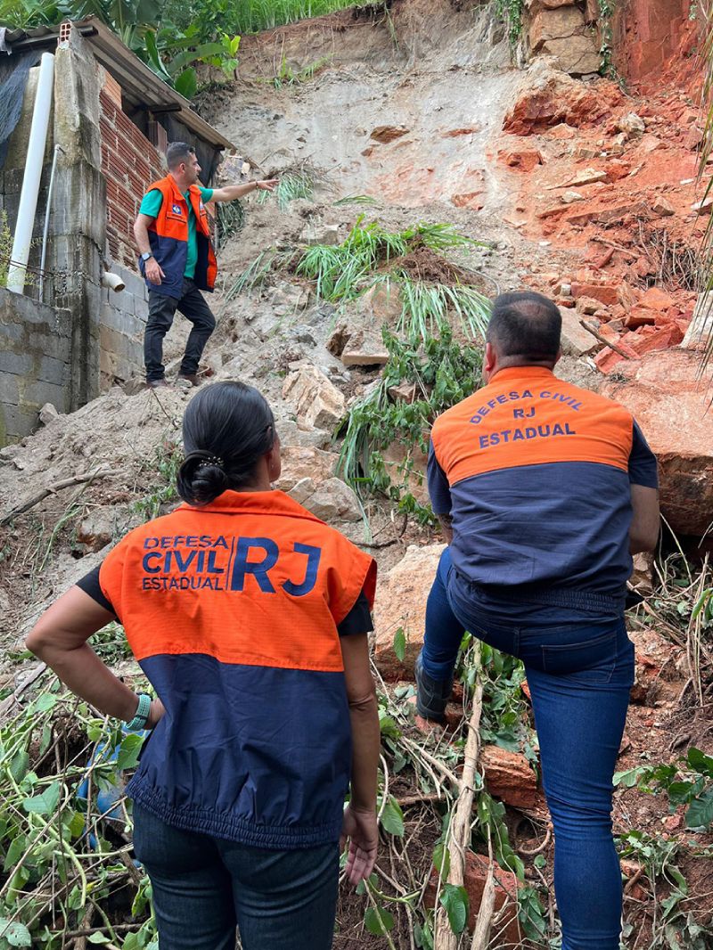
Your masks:
M701 354L680 349L623 361L625 381L607 379L602 393L634 414L659 460L661 510L672 529L703 536L713 523L713 412L698 379Z

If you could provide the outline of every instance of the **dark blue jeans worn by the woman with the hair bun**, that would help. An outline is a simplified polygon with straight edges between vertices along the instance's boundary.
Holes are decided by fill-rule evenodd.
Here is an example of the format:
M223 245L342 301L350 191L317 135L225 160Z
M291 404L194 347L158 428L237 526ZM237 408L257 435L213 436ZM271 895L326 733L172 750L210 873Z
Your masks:
M134 805L160 950L330 950L338 845L270 851L165 825Z

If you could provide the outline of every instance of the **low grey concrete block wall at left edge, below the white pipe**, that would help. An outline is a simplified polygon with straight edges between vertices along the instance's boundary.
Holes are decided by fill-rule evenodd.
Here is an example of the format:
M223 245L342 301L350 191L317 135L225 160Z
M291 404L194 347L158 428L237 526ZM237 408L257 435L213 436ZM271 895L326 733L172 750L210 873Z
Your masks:
M70 409L71 314L0 288L0 446L37 428L45 403Z

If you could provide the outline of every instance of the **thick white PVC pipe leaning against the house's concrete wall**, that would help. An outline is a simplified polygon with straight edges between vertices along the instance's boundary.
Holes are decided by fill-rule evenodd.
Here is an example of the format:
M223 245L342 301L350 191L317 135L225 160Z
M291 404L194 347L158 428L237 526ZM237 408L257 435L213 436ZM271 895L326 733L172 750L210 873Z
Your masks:
M15 294L22 294L25 290L29 245L32 242L37 196L40 191L42 166L45 162L53 86L54 56L51 53L43 53L40 60L40 75L37 79L32 124L29 128L28 158L22 180L20 207L17 211L17 224L12 241L12 263L8 270L8 290L14 291Z

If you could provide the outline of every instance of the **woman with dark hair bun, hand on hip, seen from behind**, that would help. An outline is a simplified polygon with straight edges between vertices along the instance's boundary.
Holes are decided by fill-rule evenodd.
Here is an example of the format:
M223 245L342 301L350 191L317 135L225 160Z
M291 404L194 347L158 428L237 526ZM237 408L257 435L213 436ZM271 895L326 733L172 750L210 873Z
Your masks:
M183 446L184 504L131 531L27 645L97 710L151 730L126 794L160 950L234 950L236 927L243 950L328 950L339 846L352 883L376 861L376 566L273 490L258 390L205 387ZM153 697L87 644L116 618Z

